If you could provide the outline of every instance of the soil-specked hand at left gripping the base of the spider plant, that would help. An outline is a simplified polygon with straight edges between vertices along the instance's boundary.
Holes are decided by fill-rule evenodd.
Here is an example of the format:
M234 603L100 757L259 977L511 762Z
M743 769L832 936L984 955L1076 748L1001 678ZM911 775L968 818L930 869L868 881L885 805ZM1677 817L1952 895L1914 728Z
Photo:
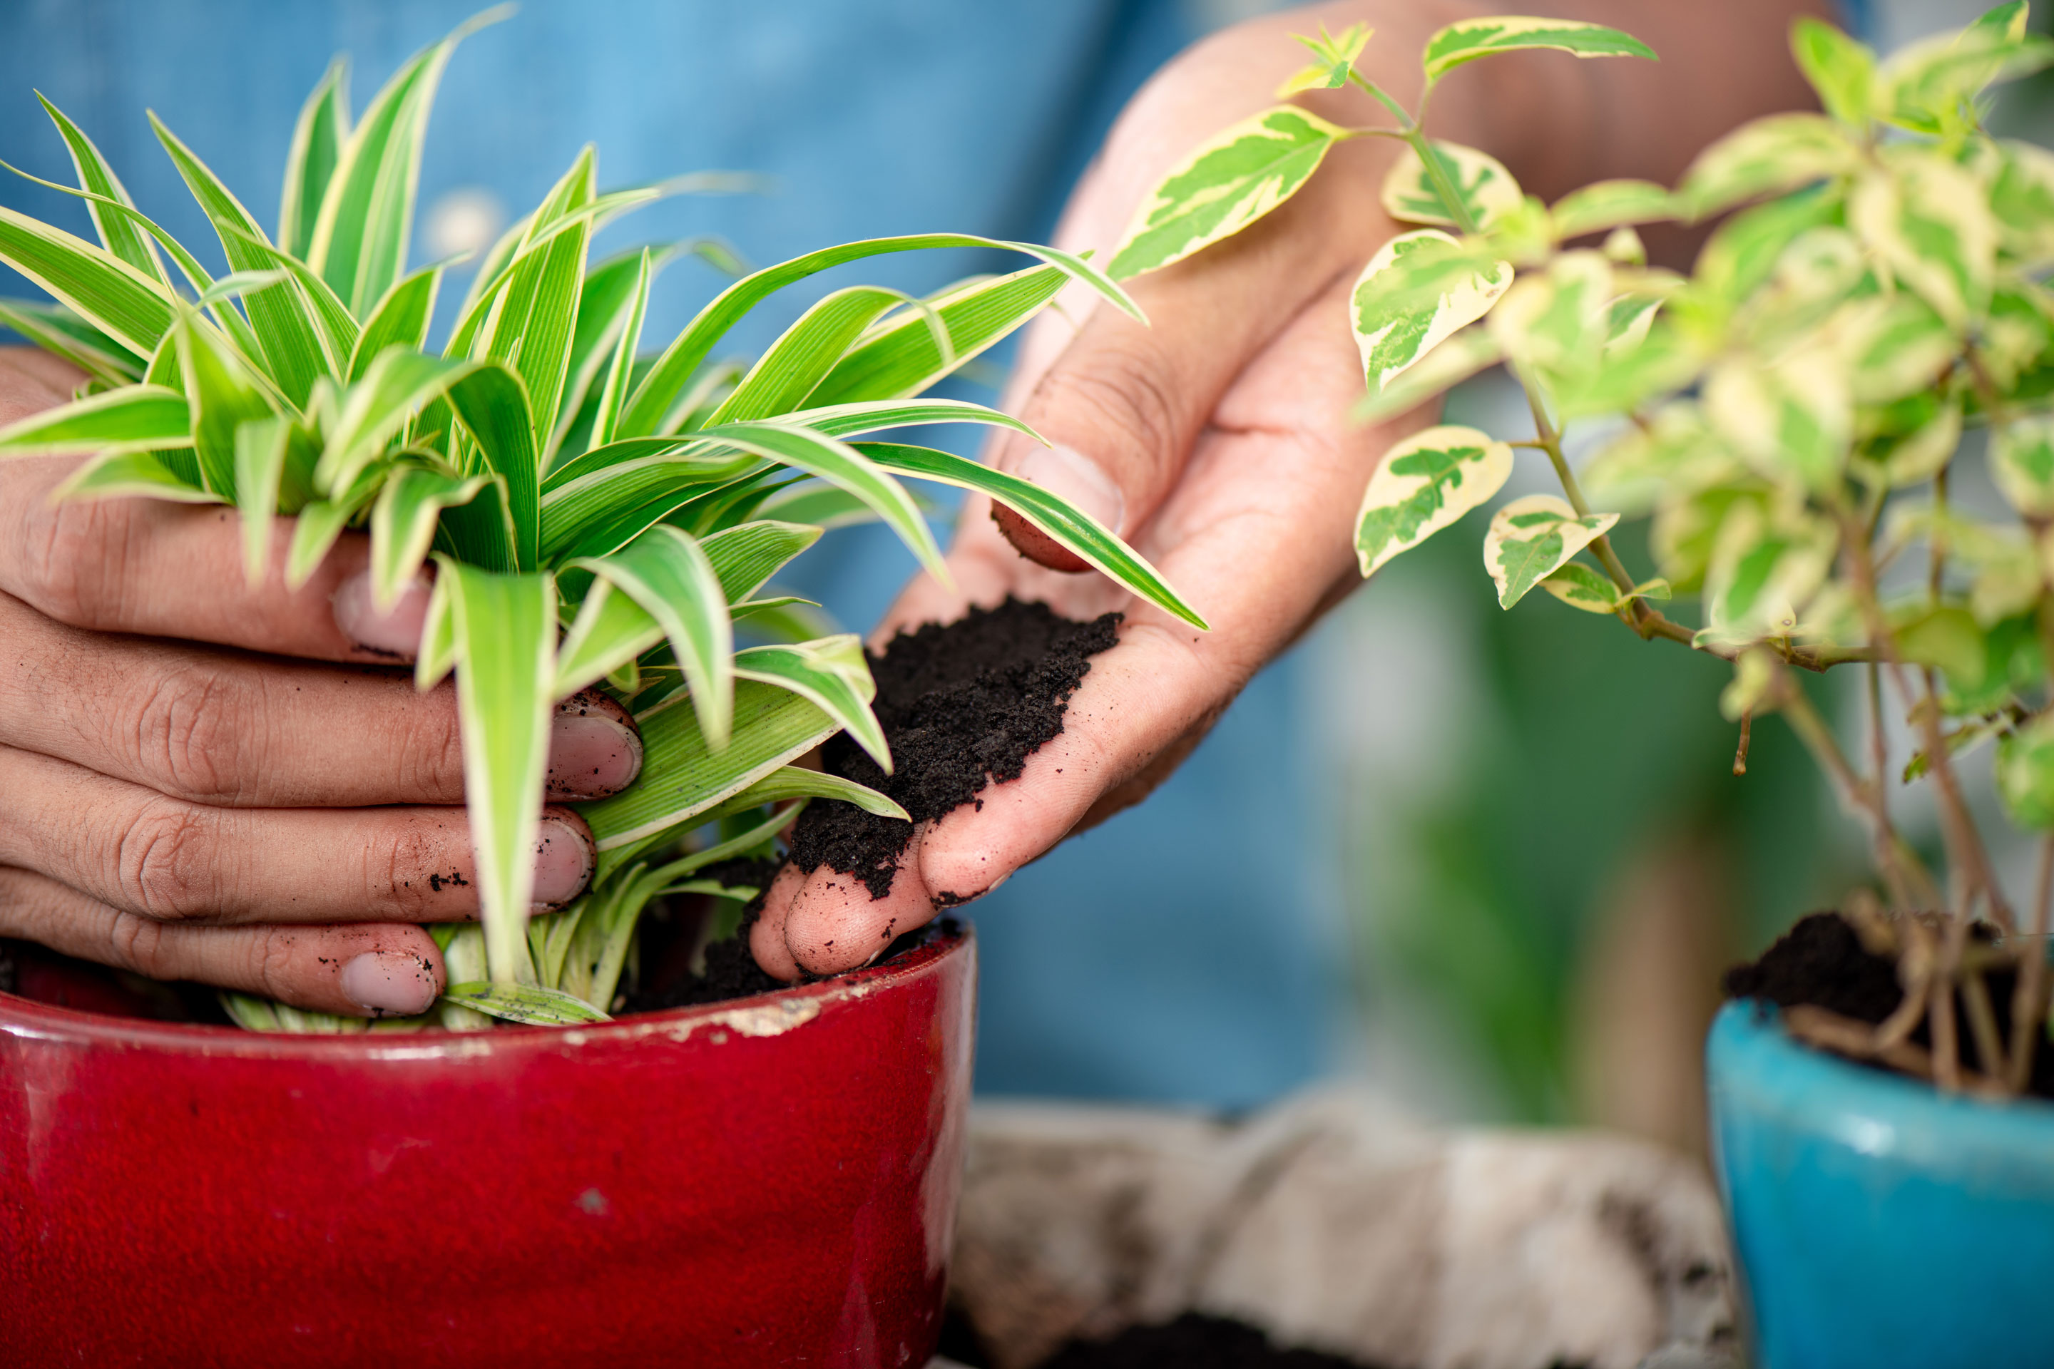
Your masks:
M74 384L0 349L0 425ZM419 924L479 915L454 692L390 669L427 585L378 614L370 540L347 534L286 589L279 523L251 587L232 509L51 503L76 466L0 462L0 936L298 1008L427 1010L446 975ZM559 706L550 798L639 770L616 704ZM538 905L592 868L583 821L548 809Z

